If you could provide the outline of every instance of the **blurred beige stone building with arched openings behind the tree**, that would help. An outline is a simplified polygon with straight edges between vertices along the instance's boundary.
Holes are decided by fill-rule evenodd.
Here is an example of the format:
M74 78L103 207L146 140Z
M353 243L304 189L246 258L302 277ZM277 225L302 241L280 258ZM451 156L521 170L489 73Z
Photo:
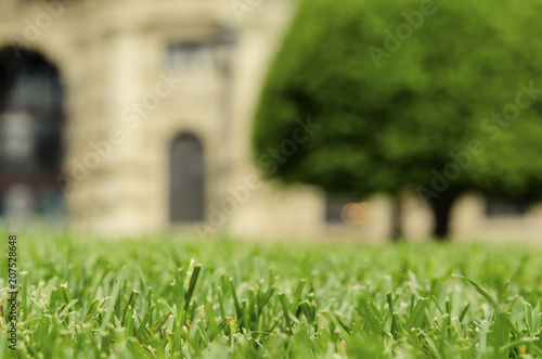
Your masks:
M262 181L254 164L251 118L294 1L4 0L1 7L3 221L44 218L111 236L389 235L385 196L327 201L313 188ZM502 220L488 217L485 206L477 195L460 200L454 234L540 233L540 209ZM412 196L403 207L405 234L427 238L427 208Z

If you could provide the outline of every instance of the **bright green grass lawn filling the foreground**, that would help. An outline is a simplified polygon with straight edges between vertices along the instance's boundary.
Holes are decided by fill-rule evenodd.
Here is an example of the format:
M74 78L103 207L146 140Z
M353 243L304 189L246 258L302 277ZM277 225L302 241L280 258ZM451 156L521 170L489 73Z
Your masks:
M541 258L517 245L21 234L16 356L542 357Z

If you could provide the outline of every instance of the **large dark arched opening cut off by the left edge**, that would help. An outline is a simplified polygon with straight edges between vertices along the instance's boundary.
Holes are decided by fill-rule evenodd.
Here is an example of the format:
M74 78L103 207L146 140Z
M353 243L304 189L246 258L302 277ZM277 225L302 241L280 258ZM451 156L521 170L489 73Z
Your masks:
M37 52L0 51L0 218L63 219L64 91Z

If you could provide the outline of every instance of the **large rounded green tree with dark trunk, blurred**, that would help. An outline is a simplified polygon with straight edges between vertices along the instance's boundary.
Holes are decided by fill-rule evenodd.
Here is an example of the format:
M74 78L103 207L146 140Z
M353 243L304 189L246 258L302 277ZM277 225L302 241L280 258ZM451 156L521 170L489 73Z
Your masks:
M256 115L258 159L310 115L321 129L269 175L359 197L414 189L437 238L464 191L538 194L541 10L533 0L302 1Z

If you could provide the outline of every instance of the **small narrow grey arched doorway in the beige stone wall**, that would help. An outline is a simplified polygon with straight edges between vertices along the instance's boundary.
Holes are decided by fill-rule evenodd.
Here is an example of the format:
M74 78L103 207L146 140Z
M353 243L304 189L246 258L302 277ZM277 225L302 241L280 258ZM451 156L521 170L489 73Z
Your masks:
M173 223L204 220L204 149L191 133L181 133L170 149L170 219Z

